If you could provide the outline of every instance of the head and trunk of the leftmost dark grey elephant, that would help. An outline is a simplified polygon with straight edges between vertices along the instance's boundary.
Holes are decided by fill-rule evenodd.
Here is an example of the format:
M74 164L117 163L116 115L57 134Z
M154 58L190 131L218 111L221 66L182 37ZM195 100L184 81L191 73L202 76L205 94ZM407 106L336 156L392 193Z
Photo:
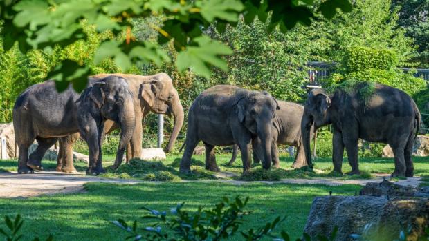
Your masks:
M95 82L89 93L104 119L110 119L120 126L120 140L113 168L122 162L125 148L134 133L136 119L133 97L127 81L118 76L109 76Z

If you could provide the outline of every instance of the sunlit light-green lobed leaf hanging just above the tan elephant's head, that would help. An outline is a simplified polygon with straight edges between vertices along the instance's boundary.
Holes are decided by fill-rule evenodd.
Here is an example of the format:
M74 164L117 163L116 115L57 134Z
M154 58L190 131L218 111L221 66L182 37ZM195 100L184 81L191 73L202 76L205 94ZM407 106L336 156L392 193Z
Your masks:
M194 39L199 46L190 46L177 55L176 66L179 71L191 68L195 73L210 78L211 71L208 65L216 66L221 70L228 70L226 61L219 55L232 55L228 46L214 41L207 36Z

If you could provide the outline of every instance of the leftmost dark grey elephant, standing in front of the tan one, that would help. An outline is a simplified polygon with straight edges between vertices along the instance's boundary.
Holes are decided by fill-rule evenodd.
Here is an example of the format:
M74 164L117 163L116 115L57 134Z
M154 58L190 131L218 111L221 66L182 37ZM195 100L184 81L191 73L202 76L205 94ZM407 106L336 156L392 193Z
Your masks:
M12 113L15 140L19 146L18 173L42 171L41 160L46 150L58 138L69 142L77 132L89 147L86 173L104 173L100 145L105 119L121 127L114 164L118 166L136 122L133 98L128 87L125 79L112 75L104 79L90 79L90 87L82 94L76 93L71 86L58 93L54 81L45 81L24 90L17 98ZM28 157L28 147L35 139L39 145ZM62 168L72 171L73 166Z

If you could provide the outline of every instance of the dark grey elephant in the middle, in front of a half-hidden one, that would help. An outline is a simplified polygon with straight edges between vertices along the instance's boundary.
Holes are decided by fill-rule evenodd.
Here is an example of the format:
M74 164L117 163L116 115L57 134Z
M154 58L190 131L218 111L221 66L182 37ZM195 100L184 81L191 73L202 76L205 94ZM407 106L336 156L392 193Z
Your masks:
M206 169L219 171L215 146L238 144L244 172L250 171L250 144L259 138L263 146L262 166L271 167L271 125L277 101L266 92L237 86L217 85L204 90L192 103L188 114L185 151L179 171L190 173L190 160L200 141L206 147Z

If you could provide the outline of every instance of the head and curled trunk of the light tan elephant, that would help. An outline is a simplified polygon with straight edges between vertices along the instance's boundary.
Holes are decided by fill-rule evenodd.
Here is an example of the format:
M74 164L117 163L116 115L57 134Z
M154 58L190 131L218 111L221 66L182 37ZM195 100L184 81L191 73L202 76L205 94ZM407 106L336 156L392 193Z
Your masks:
M149 83L141 84L140 95L149 109L158 114L173 115L174 126L165 152L172 150L183 126L183 107L172 79L165 73L149 76Z

